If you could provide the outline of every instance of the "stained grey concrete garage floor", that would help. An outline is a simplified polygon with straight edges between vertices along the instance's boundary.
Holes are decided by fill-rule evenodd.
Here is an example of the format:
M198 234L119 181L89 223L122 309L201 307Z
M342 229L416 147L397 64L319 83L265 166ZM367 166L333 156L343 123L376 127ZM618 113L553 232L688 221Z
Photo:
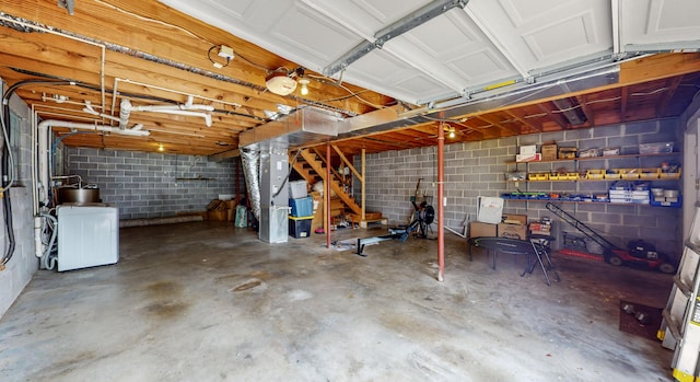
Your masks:
M339 230L336 238L381 234ZM673 351L618 329L619 300L663 306L670 276L436 242L265 244L231 223L121 230L117 265L40 270L0 321L8 381L672 381Z

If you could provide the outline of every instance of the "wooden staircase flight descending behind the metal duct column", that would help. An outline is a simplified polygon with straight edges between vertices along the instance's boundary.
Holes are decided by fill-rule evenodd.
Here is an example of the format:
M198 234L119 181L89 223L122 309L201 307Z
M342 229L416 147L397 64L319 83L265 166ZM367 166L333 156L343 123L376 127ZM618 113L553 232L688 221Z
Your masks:
M330 189L332 189L340 200L342 200L347 209L350 209L354 215L362 215L362 207L358 205L350 194L345 192L341 176L337 171L335 171L335 169L330 169L330 182L326 180L326 163L325 161L317 160L317 155L319 158L324 158L317 152L312 152L308 149L302 149L296 161L294 161L294 170L304 180L306 180L308 184L314 184L319 178L324 181L324 184L330 184ZM290 161L292 161L292 159L290 159Z

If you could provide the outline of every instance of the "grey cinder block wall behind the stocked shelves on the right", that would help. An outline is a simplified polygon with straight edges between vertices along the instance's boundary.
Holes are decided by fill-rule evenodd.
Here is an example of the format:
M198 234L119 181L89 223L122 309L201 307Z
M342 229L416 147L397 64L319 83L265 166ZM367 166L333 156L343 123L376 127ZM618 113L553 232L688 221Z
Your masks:
M460 230L468 219L476 220L478 196L501 196L506 192L536 190L560 193L606 193L611 182L541 182L517 185L505 182L504 173L512 171L551 171L565 166L573 170L575 162L549 162L509 164L515 160L518 146L557 141L560 147L590 148L618 147L621 153L638 153L639 143L672 141L676 150L682 148L681 132L677 119L651 120L634 124L576 129L570 131L542 132L521 137L492 139L478 142L445 146L445 223ZM579 169L657 167L662 161L682 160L670 158L630 158L579 162ZM357 161L357 159L355 159ZM359 163L357 163L359 165ZM406 223L411 211L410 197L421 181L421 193L436 206L436 147L404 151L388 151L366 155L368 210L381 211L390 224ZM359 183L355 182L355 185ZM655 183L664 188L680 189L679 182ZM358 187L359 188L359 187ZM359 195L359 189L355 189ZM578 231L565 222L558 221L546 209L547 201L505 200L505 213L527 215L528 219L551 217L557 232ZM644 239L657 250L679 258L681 251L681 210L677 208L623 206L579 202L560 205L565 211L597 230L616 245L626 246L631 240ZM436 209L436 208L435 208ZM561 242L561 238L559 238Z

